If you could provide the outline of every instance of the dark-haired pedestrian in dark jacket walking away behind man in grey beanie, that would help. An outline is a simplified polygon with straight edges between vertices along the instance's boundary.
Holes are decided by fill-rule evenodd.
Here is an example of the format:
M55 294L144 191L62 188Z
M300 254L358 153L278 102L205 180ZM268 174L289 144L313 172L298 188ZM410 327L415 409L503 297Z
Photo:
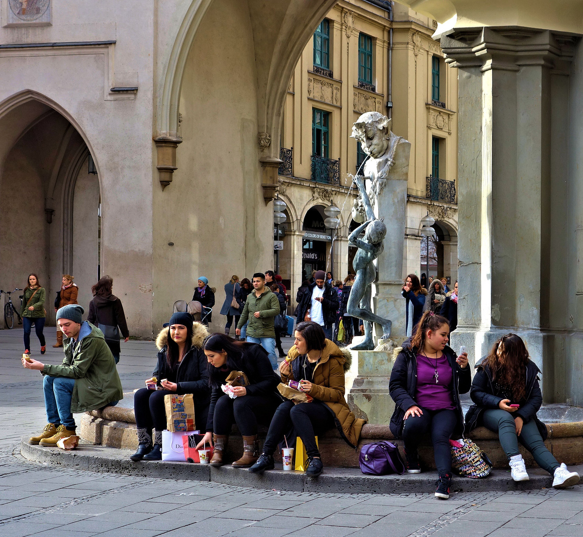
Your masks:
M115 363L120 361L120 332L124 342L129 341L128 323L125 320L124 306L113 294L113 278L105 275L91 287L93 300L89 303L87 320L96 325L113 354Z

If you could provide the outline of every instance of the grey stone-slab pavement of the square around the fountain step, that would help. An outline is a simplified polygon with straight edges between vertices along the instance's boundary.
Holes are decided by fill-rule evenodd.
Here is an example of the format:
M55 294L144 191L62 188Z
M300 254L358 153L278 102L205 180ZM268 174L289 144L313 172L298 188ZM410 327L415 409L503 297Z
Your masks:
M60 363L52 349L48 363ZM287 345L290 339L287 338ZM22 329L0 330L0 536L542 537L583 535L583 487L511 493L324 494L135 478L24 460L20 437L44 425L41 378L23 370ZM38 341L33 335L33 356ZM152 371L152 342L122 343L124 391Z

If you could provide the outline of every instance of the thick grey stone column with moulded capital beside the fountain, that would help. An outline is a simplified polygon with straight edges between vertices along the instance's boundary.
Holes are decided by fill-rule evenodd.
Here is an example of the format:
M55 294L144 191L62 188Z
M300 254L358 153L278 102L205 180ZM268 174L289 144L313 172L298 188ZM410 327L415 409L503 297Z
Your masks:
M452 346L465 345L471 360L512 331L541 370L552 361L551 124L561 106L552 80L568 75L573 43L518 27L456 29L441 39L459 69L461 295Z

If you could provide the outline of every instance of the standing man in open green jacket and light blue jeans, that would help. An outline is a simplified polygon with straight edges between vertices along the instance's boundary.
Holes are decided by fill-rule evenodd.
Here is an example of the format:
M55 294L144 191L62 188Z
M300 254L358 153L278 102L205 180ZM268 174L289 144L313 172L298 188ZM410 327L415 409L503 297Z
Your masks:
M279 300L275 293L265 287L264 273L255 272L252 282L254 290L247 296L235 334L240 335L241 328L249 321L247 341L259 343L268 352L269 361L275 369L278 367L278 357L275 354L273 319L279 314Z

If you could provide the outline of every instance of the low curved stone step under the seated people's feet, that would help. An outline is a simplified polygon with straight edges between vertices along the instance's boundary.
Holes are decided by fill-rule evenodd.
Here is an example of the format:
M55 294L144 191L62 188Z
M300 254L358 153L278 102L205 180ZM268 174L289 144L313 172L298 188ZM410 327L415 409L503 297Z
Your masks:
M403 494L435 492L436 472L419 474L367 476L356 468L330 468L317 479L308 478L303 472L271 470L264 475L253 475L245 469L232 466L188 464L187 462L132 462L132 450L120 450L103 446L79 444L73 451L30 445L27 437L20 443L20 453L30 461L64 468L111 472L144 478L186 479L226 483L257 489L292 490L297 492ZM583 466L573 468L583 473ZM552 486L548 473L535 469L529 471L531 480L515 483L510 472L494 469L486 479L463 479L454 476L452 492L484 492L507 490L535 490Z

